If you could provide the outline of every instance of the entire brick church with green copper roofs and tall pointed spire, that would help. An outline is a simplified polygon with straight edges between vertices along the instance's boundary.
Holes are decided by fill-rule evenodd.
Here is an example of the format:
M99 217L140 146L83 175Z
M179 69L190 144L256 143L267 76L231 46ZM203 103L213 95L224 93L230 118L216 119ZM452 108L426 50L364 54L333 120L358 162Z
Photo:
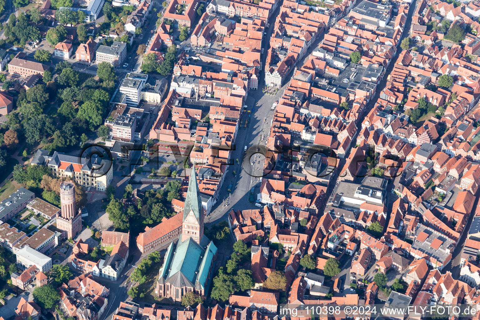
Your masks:
M155 293L181 301L187 292L208 293L217 248L204 235L204 212L195 168L190 174L183 207L182 230L177 243L170 243L159 270Z

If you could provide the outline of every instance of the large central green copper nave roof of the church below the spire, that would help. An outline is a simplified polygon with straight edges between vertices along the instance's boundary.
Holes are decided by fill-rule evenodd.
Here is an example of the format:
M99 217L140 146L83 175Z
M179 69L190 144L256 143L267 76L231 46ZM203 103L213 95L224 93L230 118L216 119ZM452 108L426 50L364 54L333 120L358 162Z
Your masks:
M167 282L176 287L193 286L197 277L195 272L198 270L203 254L204 250L191 237L182 243L177 243Z

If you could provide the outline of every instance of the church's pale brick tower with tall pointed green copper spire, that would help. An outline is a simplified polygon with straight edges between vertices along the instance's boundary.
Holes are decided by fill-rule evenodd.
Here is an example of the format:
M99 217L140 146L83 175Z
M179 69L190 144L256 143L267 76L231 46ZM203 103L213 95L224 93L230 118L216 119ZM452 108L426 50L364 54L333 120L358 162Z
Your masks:
M183 223L181 241L188 237L200 244L204 235L204 215L202 207L202 198L198 189L197 175L195 167L192 166L192 172L188 181L187 196L183 206Z

